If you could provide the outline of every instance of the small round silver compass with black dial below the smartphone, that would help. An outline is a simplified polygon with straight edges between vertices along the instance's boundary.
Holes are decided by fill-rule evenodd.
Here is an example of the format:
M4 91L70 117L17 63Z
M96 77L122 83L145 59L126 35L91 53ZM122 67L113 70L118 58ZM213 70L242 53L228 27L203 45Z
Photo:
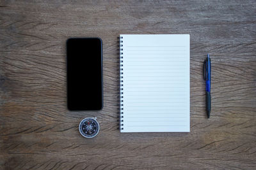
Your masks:
M97 118L84 118L79 124L79 132L84 138L93 138L99 133L100 125Z

